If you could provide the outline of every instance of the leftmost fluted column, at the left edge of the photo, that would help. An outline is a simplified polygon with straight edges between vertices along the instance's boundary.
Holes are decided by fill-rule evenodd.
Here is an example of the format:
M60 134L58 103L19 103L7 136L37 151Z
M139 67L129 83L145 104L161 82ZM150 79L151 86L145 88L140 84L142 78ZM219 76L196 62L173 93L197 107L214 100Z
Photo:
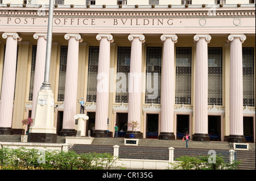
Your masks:
M13 134L13 99L15 87L17 41L21 38L17 33L3 33L6 40L5 65L3 67L2 92L0 104L0 134Z

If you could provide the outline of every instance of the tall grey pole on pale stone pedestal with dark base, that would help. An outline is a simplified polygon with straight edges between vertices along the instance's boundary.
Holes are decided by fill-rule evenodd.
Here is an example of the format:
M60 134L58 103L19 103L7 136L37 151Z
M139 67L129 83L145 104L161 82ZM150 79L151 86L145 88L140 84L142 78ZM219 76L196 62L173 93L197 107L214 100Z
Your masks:
M57 141L56 128L54 127L54 98L51 90L51 84L49 83L49 68L51 64L52 48L52 20L53 0L49 0L44 82L38 92L37 98L34 98L36 99L35 121L28 133L28 142L55 143Z

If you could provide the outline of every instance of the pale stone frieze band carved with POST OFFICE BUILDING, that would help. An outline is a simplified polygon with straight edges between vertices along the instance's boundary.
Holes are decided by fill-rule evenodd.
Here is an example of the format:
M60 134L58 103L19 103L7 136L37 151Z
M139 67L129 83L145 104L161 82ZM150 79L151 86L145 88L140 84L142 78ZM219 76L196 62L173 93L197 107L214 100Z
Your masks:
M205 18L191 18L184 19L181 17L177 18L56 18L53 17L53 27L142 27L142 28L151 28L151 27L166 27L166 28L175 28L175 27L255 27L255 22L252 23L250 19L233 18L218 20L219 17L214 17L210 19ZM243 22L243 24L241 24ZM217 23L217 24L216 24ZM31 27L47 27L48 18L43 16L37 16L34 18L23 17L23 16L4 16L0 15L0 26L31 26Z

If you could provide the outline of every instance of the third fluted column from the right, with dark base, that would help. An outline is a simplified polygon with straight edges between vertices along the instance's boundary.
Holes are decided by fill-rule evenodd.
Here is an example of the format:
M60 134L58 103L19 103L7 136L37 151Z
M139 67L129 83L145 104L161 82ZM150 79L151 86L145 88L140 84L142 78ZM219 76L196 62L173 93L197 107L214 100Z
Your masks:
M176 35L162 35L163 66L161 83L161 130L159 140L175 140L174 136L174 44Z

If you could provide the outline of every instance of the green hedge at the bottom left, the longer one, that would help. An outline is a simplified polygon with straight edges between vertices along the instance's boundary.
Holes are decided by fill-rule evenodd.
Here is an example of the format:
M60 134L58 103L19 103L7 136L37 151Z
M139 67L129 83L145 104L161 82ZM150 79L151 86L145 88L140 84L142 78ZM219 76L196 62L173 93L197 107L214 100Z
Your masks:
M38 149L0 149L0 170L105 170L113 167L111 154Z

